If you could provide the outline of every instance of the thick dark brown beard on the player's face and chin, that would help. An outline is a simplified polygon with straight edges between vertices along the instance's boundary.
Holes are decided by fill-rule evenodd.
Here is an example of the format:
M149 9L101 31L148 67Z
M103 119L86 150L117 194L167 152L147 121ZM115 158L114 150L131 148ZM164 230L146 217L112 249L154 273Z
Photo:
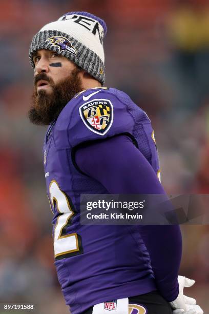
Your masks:
M67 103L82 90L79 72L80 69L75 68L71 75L57 84L54 84L45 73L36 75L35 82L46 80L50 83L53 91L50 94L45 90L37 93L36 84L34 84L32 106L28 111L30 122L37 125L49 125L57 119Z

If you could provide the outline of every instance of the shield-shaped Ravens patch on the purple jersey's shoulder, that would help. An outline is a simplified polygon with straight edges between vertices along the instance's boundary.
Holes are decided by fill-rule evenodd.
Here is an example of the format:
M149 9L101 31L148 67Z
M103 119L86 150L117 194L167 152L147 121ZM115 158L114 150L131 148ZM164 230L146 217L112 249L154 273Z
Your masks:
M84 124L92 132L105 135L113 123L113 105L107 99L94 99L79 108Z

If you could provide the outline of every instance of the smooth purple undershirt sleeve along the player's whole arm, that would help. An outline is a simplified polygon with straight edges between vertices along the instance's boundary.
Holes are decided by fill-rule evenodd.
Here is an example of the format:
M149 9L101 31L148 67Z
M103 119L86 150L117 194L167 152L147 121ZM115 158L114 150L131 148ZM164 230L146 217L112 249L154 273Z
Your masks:
M82 172L110 193L165 193L150 163L126 135L79 148L75 161ZM179 226L144 225L138 226L138 230L149 251L158 290L167 301L175 300L182 251Z

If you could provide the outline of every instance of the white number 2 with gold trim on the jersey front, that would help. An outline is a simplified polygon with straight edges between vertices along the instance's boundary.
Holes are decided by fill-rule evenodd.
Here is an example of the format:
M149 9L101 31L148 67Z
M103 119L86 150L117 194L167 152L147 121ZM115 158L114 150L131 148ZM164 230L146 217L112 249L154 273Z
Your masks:
M62 192L55 180L49 185L50 201L59 213L54 228L54 256L56 260L67 258L82 253L81 238L77 233L66 234L67 227L71 224L74 215L71 201ZM50 205L51 205L50 204Z

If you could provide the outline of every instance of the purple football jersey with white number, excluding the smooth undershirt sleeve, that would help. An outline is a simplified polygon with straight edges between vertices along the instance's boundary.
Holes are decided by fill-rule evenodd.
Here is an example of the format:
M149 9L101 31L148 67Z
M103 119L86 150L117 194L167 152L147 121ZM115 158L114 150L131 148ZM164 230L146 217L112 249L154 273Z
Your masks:
M117 89L96 88L77 94L49 126L45 138L55 266L73 314L100 302L156 290L149 253L136 226L80 225L80 194L108 191L79 171L75 149L81 143L117 134L130 136L158 173L151 122L126 93Z

